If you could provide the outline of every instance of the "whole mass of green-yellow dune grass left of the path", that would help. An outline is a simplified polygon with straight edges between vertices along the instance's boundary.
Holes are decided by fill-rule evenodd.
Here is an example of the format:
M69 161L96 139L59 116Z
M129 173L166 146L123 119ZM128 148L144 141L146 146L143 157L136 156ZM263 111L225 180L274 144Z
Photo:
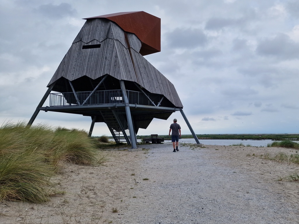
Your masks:
M0 127L0 200L46 202L53 194L51 177L65 163L91 165L103 162L83 130L52 128L25 122Z

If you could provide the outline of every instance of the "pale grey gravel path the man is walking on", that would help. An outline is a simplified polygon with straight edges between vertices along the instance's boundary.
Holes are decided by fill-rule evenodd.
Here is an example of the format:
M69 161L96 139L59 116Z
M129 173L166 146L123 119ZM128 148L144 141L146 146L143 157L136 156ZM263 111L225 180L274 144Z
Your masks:
M274 165L294 168L258 158L253 164L243 150L263 148L180 146L176 153L171 143L150 148L138 174L149 180L136 188L136 200L127 202L129 211L117 223L298 223L297 184L292 182L296 193L290 197L270 172Z

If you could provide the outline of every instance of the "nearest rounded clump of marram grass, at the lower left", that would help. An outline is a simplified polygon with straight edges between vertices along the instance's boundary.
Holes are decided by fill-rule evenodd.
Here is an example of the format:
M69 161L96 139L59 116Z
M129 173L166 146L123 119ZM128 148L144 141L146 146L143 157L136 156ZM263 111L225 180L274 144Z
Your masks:
M0 199L32 203L46 202L52 187L51 165L38 151L25 150L0 158Z

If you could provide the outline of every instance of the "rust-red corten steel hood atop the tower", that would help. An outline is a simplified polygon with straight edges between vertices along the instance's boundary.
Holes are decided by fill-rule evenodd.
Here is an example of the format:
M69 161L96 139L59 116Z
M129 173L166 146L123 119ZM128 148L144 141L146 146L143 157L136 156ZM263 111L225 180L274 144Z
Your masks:
M118 24L124 31L134 33L141 40L141 55L161 51L161 19L144 11L113 13L85 18L106 18Z

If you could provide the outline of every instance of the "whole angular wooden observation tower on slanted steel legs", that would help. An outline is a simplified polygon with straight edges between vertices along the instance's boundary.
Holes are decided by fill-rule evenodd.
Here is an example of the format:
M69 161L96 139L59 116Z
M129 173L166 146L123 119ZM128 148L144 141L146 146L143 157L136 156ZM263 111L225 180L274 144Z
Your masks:
M160 51L160 24L143 11L86 18L28 125L39 111L81 114L91 117L90 136L105 122L116 142L137 148L139 128L180 111L199 144L173 84L143 57Z

